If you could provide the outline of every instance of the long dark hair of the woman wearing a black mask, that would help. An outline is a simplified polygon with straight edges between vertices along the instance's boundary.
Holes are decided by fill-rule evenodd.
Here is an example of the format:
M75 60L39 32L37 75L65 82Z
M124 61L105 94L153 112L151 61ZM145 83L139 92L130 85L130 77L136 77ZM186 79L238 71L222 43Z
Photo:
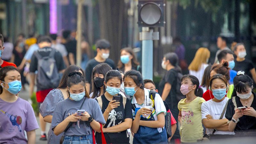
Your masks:
M99 97L100 96L100 87L97 87L96 84L94 83L94 75L97 74L102 74L105 78L106 73L112 70L112 68L106 64L106 63L100 63L96 65L93 70L92 70L92 77L91 77L91 84L92 84L92 98ZM105 86L103 86L103 93L106 92Z

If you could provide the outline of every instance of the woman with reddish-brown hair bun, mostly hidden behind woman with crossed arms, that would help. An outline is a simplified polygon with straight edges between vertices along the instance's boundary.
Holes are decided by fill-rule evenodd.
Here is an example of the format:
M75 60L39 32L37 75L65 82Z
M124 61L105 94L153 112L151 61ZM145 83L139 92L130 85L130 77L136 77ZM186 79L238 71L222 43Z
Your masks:
M228 68L228 61L225 60L222 64L217 64L217 65L214 65L212 67L210 77L212 77L216 74L221 74L221 75L224 75L226 77L227 81L229 81L229 79L230 79L229 70L230 70L230 68ZM230 99L231 95L233 93L233 90L234 90L234 85L233 84L230 84L230 85L228 84L228 90L227 90L226 97L228 97ZM212 91L207 90L206 92L204 92L203 98L204 98L205 101L213 99L214 96L212 94Z

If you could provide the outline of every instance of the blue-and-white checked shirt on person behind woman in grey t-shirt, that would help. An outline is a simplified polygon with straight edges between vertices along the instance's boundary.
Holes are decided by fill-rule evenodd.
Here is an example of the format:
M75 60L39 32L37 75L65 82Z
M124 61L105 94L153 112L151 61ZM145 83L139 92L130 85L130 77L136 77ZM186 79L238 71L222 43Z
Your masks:
M44 102L42 103L40 107L40 113L44 116L49 116L53 114L53 111L57 105L58 102L61 100L64 100L64 96L62 95L61 91L59 89L53 89L50 91L46 98L44 99ZM57 144L60 143L60 138L63 136L64 132L60 133L59 135L55 135L52 131L52 125L50 126L49 132L48 132L48 138L47 138L47 144Z

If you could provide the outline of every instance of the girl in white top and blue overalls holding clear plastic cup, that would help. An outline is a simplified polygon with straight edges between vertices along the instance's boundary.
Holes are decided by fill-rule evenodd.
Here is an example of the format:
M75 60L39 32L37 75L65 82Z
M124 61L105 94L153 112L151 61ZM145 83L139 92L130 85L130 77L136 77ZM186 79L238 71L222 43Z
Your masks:
M153 108L144 106L144 101L150 99L148 89L144 88L143 78L136 70L127 71L124 75L124 91L132 96L132 132L133 143L167 143L164 127L166 109L160 95L156 93Z

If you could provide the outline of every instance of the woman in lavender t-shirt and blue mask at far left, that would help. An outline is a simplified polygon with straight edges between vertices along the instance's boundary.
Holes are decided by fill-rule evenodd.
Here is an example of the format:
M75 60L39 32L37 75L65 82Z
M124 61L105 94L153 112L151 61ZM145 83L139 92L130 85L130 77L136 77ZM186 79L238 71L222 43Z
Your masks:
M36 129L39 127L34 110L28 101L16 96L21 90L20 79L17 68L7 66L0 69L1 143L36 143Z

